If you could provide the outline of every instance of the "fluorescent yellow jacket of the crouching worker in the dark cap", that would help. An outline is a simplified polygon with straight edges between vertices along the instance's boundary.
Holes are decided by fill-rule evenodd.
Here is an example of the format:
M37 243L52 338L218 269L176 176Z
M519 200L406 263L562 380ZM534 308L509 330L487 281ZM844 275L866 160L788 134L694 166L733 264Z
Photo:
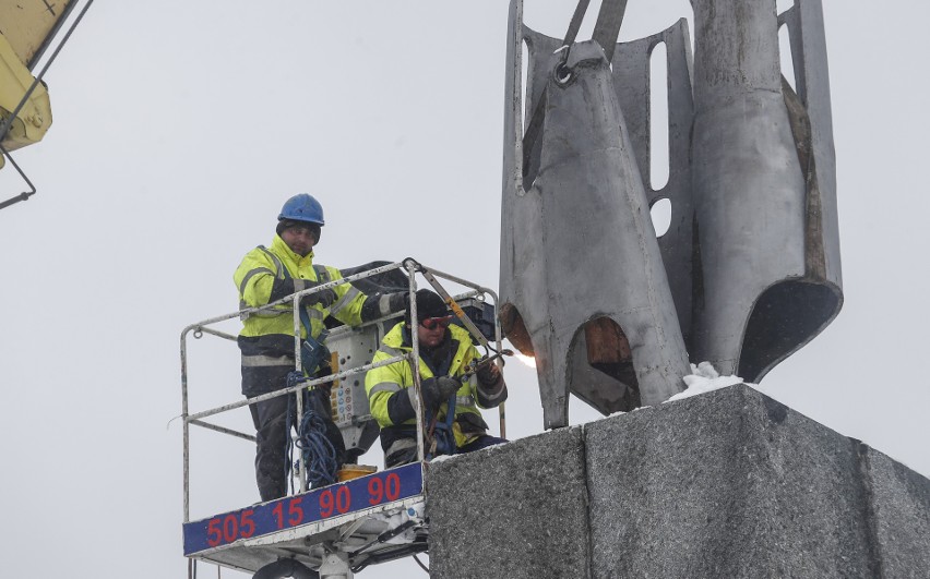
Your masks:
M478 358L478 350L472 345L470 335L467 330L450 325L449 331L452 334L453 346L455 346L452 364L449 369L449 376L461 376L468 370L468 364L472 360ZM381 347L374 353L372 362L388 360L396 355L402 355L413 350L413 346L404 342L404 323L401 322L394 326L381 342ZM433 377L432 371L420 359L420 378L426 379ZM371 415L378 421L382 429L392 429L394 426L416 426L416 418L405 421L403 424L394 424L388 412L388 400L394 393L405 391L410 396L410 401L414 401L415 390L414 373L410 369L410 363L407 360L394 362L385 366L369 370L365 376L365 390L368 394L368 403L371 409ZM484 423L481 412L478 410L476 401L477 379L473 375L470 379L462 385L456 393L455 401L455 423L453 432L455 433L455 443L462 447L472 441L476 439L482 433L463 434L458 423L463 414L476 414L478 422ZM448 405L445 402L440 406L438 420L445 420ZM424 417L424 422L428 425L432 417ZM382 432L382 437L385 435Z

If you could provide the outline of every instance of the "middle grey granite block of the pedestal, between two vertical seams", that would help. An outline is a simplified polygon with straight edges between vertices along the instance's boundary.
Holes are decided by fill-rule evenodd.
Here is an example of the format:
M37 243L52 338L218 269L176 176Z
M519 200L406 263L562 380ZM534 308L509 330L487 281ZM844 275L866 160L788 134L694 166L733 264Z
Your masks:
M593 577L872 577L856 445L735 386L587 425Z

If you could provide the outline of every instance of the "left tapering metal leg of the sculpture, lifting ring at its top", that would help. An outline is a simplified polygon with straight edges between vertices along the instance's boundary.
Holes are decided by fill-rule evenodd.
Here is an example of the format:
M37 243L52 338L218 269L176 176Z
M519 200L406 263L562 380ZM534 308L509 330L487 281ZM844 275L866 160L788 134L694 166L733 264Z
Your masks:
M689 370L609 63L587 41L559 68L560 44L523 27L512 1L500 316L536 358L548 429L568 424L570 391L604 413L630 410L683 389Z

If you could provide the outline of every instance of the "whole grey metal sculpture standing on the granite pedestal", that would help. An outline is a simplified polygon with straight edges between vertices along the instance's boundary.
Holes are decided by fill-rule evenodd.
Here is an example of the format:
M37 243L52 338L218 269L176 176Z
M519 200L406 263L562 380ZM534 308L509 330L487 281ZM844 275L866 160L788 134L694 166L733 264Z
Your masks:
M511 2L500 317L536 358L546 427L568 424L569 393L605 414L669 398L687 352L758 382L843 300L820 0L780 17L775 0L694 0L693 59L683 19L617 44L625 4L604 0L594 40L575 43L587 0L563 40L524 26ZM779 23L797 93L780 74ZM655 190L659 43L670 172ZM657 240L648 209L663 198L671 227Z

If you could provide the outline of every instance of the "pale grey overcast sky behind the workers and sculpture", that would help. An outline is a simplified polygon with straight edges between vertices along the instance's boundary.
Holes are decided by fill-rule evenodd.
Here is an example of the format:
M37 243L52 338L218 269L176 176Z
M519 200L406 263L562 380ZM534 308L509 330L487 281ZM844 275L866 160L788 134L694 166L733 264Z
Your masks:
M184 576L178 337L236 309L233 272L288 196L325 208L319 262L410 255L497 287L506 3L94 4L46 79L53 126L15 156L39 192L0 210L4 577ZM574 2L541 4L527 23L562 35ZM926 475L930 8L824 11L846 302L762 389ZM682 15L631 1L621 38ZM22 186L0 171L0 198ZM239 399L235 346L191 357L193 409ZM540 432L535 372L506 375L509 435ZM253 453L194 432L193 517L258 498Z

